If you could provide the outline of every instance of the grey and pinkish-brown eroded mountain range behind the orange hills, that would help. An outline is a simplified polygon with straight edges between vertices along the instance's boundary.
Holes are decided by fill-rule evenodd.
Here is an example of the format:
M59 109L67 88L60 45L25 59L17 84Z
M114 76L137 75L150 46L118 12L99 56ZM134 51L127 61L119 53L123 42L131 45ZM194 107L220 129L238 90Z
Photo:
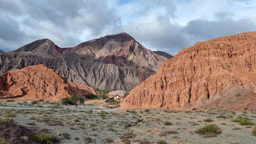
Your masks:
M49 39L0 53L0 73L44 64L68 81L99 89L130 90L156 73L166 57L145 49L126 33L60 48Z

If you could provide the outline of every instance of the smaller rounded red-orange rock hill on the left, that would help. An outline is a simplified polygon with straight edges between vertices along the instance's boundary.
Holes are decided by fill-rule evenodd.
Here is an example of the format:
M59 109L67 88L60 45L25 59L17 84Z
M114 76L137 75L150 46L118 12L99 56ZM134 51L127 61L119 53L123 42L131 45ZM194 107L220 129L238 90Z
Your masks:
M97 94L84 84L68 82L45 65L33 65L7 71L0 77L0 91L24 95L24 99L61 100L71 94Z

